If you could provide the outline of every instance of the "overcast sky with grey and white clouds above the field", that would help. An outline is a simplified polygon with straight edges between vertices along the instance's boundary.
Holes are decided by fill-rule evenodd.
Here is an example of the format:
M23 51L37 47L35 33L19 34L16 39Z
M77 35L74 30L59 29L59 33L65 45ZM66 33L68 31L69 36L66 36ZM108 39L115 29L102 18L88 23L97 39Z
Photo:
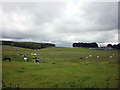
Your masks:
M3 2L0 16L1 40L118 43L117 2Z

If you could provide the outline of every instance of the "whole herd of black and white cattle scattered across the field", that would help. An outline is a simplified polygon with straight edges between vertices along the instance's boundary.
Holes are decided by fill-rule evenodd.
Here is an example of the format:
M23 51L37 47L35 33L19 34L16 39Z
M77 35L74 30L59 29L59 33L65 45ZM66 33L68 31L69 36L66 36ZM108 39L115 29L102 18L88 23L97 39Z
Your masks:
M25 62L28 61L26 54L20 53L20 54L16 54L16 55L21 55ZM35 57L33 57L33 62L39 64L40 58L39 57L37 58L36 55L37 55L36 53L31 53L31 56L35 56ZM111 59L113 56L115 56L115 54L112 54L111 56L109 56L109 58ZM84 59L84 58L88 59L91 57L92 57L92 55L88 55L86 57L80 57L80 59ZM96 56L96 58L100 58L100 56ZM9 62L11 61L11 59L9 57L4 57L3 61L5 61L5 60L9 60Z

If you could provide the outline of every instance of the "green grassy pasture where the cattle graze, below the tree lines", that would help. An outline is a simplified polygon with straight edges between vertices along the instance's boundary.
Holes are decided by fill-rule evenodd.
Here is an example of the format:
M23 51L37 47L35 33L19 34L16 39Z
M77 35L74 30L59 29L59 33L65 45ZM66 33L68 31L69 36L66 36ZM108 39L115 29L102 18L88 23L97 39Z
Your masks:
M18 52L26 54L29 61L24 62L22 56L16 55ZM33 63L31 53L40 57L40 64ZM113 53L115 56L110 59ZM84 58L90 54L92 57ZM117 88L120 79L117 50L65 47L31 50L3 46L4 57L12 61L2 62L3 88Z

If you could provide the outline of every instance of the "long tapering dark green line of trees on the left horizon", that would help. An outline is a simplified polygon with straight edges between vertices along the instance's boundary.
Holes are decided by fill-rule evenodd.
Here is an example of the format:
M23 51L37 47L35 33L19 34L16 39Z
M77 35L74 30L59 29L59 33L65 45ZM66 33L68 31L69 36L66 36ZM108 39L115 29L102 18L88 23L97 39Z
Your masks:
M42 49L46 47L55 47L51 43L35 43L35 42L15 42L15 41L1 41L2 45L16 46L29 49Z

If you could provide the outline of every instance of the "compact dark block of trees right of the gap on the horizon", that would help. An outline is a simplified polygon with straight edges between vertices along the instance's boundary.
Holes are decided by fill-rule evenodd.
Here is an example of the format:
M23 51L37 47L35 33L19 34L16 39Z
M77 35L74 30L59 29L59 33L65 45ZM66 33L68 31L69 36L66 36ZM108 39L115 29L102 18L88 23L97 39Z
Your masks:
M98 44L93 42L93 43L73 43L73 47L98 47Z

